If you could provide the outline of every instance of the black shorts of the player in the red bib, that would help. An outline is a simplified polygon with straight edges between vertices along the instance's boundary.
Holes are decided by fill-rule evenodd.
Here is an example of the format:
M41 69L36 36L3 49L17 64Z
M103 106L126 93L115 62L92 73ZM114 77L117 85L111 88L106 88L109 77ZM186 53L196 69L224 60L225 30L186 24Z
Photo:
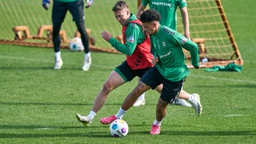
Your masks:
M122 62L121 65L117 66L114 71L116 71L124 80L125 82L130 82L136 76L142 78L142 75L146 73L147 70L150 70L152 67L147 67L145 69L140 70L132 70L128 63Z

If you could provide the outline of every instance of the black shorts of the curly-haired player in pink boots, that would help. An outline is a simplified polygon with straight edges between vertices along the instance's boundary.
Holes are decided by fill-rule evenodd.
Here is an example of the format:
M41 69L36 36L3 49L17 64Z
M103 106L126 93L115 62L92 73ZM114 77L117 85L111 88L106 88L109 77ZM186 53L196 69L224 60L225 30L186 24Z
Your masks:
M173 102L175 98L178 98L178 94L182 90L185 78L178 82L171 82L170 80L164 78L158 71L157 67L154 66L142 76L141 81L147 86L150 86L153 90L158 85L162 84L163 87L160 98L162 98L163 101L170 103Z

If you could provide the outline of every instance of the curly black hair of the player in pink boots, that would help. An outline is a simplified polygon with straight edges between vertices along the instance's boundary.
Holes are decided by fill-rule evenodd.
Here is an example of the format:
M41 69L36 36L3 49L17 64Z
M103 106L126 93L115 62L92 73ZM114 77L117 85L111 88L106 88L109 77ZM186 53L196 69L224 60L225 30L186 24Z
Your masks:
M145 10L143 11L142 15L140 16L142 22L152 22L152 21L160 21L161 15L158 13L157 10Z

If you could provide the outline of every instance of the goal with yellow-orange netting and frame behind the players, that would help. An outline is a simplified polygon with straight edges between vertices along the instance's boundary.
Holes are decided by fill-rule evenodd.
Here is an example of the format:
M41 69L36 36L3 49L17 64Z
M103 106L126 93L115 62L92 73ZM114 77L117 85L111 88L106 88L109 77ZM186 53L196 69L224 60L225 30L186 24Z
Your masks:
M18 5L17 5L18 3ZM137 11L140 0L129 1L130 11ZM90 50L100 50L110 53L118 53L109 43L101 37L102 30L108 30L113 38L122 40L118 35L122 34L119 22L111 13L113 1L94 1L94 5L90 9L85 9L86 14L86 30L90 29ZM238 50L238 46L234 40L234 35L230 29L226 14L222 8L220 0L193 0L187 1L187 10L190 19L190 37L192 41L198 44L199 58L202 67L226 66L234 62L236 65L243 65L242 56ZM40 46L52 48L51 35L42 33L42 36L34 37L39 26L47 26L51 24L51 10L44 10L41 3L32 2L31 0L11 0L1 1L0 9L2 19L0 26L4 27L0 31L0 43L22 45L22 46ZM94 7L95 6L95 7ZM11 13L11 15L10 15ZM239 21L239 20L238 20ZM103 25L102 25L103 23ZM182 25L182 16L177 12L177 30L184 33ZM17 29L27 26L30 30L30 37L27 30ZM15 28L13 30L13 28ZM66 35L62 38L62 48L69 48L68 40L74 38L76 30L72 16L67 13L62 30ZM49 31L49 30L47 30ZM91 38L91 36L94 38ZM66 36L66 38L64 37ZM121 38L121 39L120 39ZM91 41L93 40L93 41ZM97 43L94 43L94 41ZM184 50L186 64L193 68L190 64L190 54Z

